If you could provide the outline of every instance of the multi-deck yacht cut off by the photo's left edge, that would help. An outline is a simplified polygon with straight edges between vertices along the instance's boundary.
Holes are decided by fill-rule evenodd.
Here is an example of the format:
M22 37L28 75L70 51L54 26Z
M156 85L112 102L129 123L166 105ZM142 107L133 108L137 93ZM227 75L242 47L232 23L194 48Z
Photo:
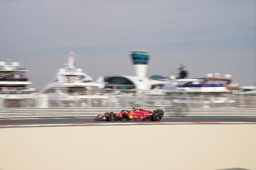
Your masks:
M25 68L19 67L19 62L0 62L0 107L19 108L33 107L35 88L29 88L32 83L26 76Z

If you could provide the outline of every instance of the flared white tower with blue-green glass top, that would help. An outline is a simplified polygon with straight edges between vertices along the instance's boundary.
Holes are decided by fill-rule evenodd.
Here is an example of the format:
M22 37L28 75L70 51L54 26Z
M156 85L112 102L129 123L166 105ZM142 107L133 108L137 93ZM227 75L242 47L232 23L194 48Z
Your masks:
M135 76L146 77L149 53L151 51L131 51L131 58L134 65Z

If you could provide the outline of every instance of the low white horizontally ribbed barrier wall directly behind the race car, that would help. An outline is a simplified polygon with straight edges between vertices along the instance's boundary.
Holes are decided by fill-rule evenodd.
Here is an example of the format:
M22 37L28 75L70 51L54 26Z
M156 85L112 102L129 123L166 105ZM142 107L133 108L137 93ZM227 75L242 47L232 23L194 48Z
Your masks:
M141 108L163 109L166 116L256 116L256 109L224 108ZM1 118L96 117L107 111L120 112L131 108L0 108Z

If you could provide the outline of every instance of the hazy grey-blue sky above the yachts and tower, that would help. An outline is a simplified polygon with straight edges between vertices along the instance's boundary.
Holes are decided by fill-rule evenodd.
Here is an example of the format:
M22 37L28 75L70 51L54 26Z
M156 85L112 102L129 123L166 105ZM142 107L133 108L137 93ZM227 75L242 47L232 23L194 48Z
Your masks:
M130 53L151 52L147 76L184 63L190 78L255 80L255 0L0 0L0 60L29 70L35 87L76 53L93 79L134 75Z

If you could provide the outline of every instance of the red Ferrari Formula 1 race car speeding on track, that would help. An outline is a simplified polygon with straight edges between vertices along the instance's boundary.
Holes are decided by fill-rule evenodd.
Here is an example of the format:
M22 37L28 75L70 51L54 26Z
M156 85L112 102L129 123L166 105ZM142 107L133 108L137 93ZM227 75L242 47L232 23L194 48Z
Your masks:
M135 109L132 110L122 110L119 113L106 112L103 115L98 115L94 120L104 120L104 121L160 121L164 116L164 112L161 109L156 109L154 112Z

